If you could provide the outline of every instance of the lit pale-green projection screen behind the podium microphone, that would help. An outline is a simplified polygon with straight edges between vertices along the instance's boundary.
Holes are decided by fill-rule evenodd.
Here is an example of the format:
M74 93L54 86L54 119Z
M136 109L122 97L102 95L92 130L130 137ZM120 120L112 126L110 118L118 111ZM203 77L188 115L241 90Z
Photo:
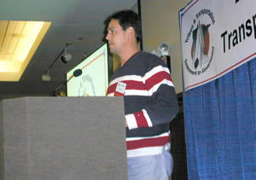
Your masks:
M82 74L75 77L79 69ZM106 96L107 88L108 47L103 44L67 73L67 96Z

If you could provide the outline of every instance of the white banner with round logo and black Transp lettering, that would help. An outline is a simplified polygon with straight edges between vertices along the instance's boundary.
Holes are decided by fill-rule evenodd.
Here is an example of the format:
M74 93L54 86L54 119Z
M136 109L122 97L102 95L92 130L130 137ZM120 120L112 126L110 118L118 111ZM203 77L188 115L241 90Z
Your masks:
M256 0L194 0L179 11L184 90L256 56Z

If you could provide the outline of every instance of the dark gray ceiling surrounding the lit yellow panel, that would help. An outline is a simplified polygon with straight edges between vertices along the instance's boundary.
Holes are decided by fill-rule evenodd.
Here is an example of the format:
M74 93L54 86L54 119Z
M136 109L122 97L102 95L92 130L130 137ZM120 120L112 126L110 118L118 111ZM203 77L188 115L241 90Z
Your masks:
M0 96L47 96L66 79L66 73L84 56L102 45L103 21L119 9L131 9L137 0L5 0L0 20L51 21L49 31L26 67L19 82L0 82ZM64 64L57 55L67 43L72 61ZM50 67L51 81L42 75ZM65 85L63 85L65 86Z

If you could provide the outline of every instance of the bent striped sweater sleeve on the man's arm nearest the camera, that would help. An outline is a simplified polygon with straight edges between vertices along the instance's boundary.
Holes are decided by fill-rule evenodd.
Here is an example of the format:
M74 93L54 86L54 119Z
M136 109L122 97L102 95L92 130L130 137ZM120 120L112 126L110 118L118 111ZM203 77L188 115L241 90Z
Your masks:
M177 96L169 69L163 64L149 64L143 79L150 106L125 115L130 130L170 123L177 114Z

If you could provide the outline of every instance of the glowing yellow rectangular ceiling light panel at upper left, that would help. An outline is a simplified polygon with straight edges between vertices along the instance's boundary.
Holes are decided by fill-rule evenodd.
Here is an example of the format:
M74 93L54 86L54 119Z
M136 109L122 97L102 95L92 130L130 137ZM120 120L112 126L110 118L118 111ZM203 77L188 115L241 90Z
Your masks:
M19 81L51 22L0 20L0 81Z

